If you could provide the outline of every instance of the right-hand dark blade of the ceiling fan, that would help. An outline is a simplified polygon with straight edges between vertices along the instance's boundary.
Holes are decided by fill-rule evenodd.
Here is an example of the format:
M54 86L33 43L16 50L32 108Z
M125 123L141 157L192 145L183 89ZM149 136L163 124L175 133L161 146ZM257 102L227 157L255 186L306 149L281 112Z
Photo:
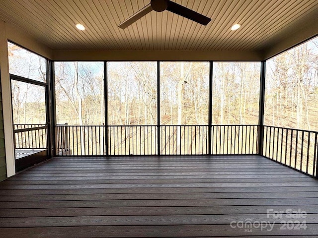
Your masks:
M170 0L168 0L167 10L205 26L211 21L211 18L206 17L196 11L193 11Z

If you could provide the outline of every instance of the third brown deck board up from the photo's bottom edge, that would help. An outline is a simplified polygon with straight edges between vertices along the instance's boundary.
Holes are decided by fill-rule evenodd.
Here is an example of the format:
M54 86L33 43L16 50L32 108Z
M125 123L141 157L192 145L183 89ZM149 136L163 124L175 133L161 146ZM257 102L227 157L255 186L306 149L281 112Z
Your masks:
M268 206L194 206L194 207L89 207L1 209L0 217L134 216L134 215L213 215L264 214L267 209L286 211L289 205ZM308 214L318 214L318 205L298 205Z

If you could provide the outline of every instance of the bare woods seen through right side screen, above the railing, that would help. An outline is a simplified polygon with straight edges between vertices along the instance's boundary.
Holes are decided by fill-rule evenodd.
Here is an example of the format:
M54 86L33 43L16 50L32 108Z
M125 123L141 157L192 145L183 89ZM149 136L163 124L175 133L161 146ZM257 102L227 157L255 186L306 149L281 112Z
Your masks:
M264 123L318 131L318 38L266 61Z

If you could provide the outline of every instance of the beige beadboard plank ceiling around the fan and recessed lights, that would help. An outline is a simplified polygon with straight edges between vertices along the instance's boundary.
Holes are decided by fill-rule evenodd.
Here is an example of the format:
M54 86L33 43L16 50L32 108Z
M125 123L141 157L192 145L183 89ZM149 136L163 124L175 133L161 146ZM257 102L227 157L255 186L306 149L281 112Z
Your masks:
M173 1L212 21L203 26L152 11L124 30L117 27L150 0L0 0L0 19L52 50L261 51L318 14L318 0ZM231 31L235 23L241 28Z

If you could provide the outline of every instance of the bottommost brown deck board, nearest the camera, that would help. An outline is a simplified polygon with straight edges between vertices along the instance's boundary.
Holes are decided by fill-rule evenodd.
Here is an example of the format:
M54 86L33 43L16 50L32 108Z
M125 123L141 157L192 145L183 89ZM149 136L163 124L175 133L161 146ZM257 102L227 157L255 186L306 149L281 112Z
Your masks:
M316 224L308 224L306 230L281 230L281 224L275 224L272 231L253 229L254 236L287 237L318 234ZM176 225L176 226L95 226L95 227L35 227L2 228L3 238L118 238L118 237L224 237L246 236L244 231L232 229L229 225ZM200 235L200 236L198 236Z

